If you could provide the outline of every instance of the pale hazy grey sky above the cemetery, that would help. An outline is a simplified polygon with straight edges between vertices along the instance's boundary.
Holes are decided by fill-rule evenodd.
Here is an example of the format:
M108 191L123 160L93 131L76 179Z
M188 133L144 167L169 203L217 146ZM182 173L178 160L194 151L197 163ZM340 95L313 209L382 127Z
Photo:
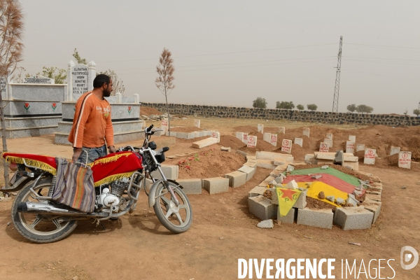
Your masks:
M112 69L125 95L165 102L155 86L163 48L170 103L251 107L264 97L331 111L343 36L339 111L412 113L420 101L420 1L21 0L29 73L66 69L73 49Z

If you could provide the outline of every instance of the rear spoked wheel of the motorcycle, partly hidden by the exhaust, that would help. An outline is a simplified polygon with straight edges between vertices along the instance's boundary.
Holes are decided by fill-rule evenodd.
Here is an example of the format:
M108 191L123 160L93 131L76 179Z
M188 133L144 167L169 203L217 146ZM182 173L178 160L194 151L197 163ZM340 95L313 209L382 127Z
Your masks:
M48 196L51 181L52 177L38 181L34 188L35 192L38 195ZM60 216L18 212L19 202L51 203L37 200L29 190L33 186L34 181L29 182L16 196L12 205L13 225L23 237L36 243L50 243L64 239L76 228L77 221L66 221Z

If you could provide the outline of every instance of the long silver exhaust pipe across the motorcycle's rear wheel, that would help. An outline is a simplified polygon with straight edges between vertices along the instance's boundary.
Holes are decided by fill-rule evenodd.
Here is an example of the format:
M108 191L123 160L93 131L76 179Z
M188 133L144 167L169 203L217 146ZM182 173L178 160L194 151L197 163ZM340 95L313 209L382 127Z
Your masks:
M18 212L46 214L46 215L59 215L59 216L83 216L83 217L105 217L109 214L106 213L83 213L74 209L66 209L51 204L40 202L19 202Z

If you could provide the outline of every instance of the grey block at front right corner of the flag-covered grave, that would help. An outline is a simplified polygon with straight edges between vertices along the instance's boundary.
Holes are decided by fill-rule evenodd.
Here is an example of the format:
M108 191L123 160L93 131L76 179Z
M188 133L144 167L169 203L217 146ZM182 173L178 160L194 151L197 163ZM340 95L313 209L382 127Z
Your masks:
M334 223L343 230L365 230L371 227L373 216L373 213L364 207L337 207Z

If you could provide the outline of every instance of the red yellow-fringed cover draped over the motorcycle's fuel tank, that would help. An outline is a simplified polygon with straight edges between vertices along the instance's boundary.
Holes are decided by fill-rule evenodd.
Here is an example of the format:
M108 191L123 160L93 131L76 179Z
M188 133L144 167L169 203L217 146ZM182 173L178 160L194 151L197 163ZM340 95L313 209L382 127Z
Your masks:
M119 152L98 158L90 164L94 186L130 177L141 166L141 156L133 152Z

